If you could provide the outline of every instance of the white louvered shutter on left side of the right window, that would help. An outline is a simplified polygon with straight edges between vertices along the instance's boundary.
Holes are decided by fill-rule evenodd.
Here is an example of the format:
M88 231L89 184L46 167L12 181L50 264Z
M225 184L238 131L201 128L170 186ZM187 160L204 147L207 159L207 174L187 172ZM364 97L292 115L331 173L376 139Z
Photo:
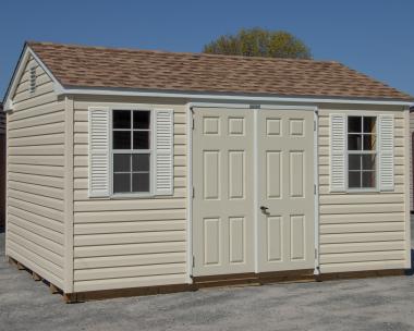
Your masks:
M330 191L344 192L346 156L346 117L330 115Z

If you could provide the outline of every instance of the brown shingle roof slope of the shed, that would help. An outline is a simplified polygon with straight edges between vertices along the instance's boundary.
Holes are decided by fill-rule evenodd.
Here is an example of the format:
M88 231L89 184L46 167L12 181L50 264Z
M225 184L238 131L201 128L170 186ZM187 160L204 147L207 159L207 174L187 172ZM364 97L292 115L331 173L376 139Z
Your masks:
M329 61L28 42L65 87L413 100Z

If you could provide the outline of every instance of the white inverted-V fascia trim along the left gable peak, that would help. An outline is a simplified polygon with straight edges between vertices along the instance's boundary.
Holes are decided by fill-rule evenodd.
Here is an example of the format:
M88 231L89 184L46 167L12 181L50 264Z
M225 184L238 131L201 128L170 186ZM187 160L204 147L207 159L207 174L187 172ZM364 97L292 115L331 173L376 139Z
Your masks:
M53 74L49 71L49 69L45 65L45 63L37 57L37 54L31 49L29 46L25 45L25 47L22 51L22 56L20 58L20 61L16 65L16 70L13 74L12 82L10 84L10 88L8 89L8 93L4 97L4 107L3 107L4 112L13 110L12 96L14 95L14 93L17 88L20 78L23 75L25 65L26 65L28 58L31 56L36 60L38 65L46 72L46 74L50 77L50 79L52 79L53 85L54 85L54 91L57 94L62 94L62 90L64 90L62 85L58 82L58 79L53 76Z

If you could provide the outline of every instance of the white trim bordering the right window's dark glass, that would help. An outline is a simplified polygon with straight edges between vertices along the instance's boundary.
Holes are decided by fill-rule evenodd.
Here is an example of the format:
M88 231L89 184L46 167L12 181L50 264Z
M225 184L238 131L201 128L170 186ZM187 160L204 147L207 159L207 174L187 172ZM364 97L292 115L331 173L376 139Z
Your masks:
M376 118L375 120L375 127L376 127L376 145L375 145L375 155L376 155L376 162L375 162L375 187L355 187L355 188L350 188L350 182L349 182L349 176L350 176L350 167L349 167L349 155L350 155L350 150L348 149L348 119L351 118L351 117L360 117L360 118L366 118L366 117L370 117L370 118ZM354 193L354 194L357 194L357 193L379 193L380 189L379 189L379 162L378 162L378 156L379 156L379 148L378 148L378 135L379 135L379 125L378 125L378 117L379 114L378 113L369 113L369 112L352 112L352 113L346 113L345 114L345 152L346 152L346 157L345 157L345 189L346 189L346 193ZM358 152L351 152L352 154L356 154L356 155L361 155ZM374 154L374 152L372 152Z

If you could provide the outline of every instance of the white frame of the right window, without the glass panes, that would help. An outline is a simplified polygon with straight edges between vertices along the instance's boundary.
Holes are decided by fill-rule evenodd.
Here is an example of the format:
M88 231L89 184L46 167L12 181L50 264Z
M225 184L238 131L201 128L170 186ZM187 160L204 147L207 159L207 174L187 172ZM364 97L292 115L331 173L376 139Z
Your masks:
M375 118L375 130L376 130L376 144L375 149L373 150L349 150L349 118ZM351 134L361 134L363 133L363 121L361 122L362 125L362 132L361 133L351 133ZM366 112L353 112L345 115L345 180L346 180L346 193L378 193L379 192L379 125L378 125L378 114L377 113L366 113ZM364 142L362 142L362 145L364 145ZM350 155L375 155L376 156L376 162L375 162L375 186L374 187L350 187L350 164L349 159Z

